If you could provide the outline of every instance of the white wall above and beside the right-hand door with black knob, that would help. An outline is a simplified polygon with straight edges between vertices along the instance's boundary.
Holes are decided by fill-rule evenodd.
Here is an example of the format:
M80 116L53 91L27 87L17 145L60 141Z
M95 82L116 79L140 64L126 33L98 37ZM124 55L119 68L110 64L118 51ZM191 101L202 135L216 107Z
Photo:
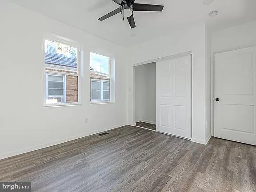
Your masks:
M214 119L214 54L252 46L256 46L256 21L212 33L212 120ZM214 132L214 124L212 124L212 132Z

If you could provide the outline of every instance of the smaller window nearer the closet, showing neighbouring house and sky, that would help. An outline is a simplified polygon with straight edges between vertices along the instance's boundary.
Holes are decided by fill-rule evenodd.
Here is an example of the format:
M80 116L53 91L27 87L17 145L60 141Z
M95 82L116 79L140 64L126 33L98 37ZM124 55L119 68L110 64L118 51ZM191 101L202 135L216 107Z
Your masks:
M111 101L112 60L107 56L90 53L91 101Z

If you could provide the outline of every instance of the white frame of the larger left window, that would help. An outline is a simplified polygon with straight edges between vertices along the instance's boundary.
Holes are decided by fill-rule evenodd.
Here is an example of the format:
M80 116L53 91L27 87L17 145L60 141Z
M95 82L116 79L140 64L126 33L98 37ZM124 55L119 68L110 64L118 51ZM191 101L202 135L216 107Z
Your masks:
M55 71L49 71L46 69L46 64L45 64L45 40L50 40L53 42L61 43L61 44L66 44L68 46L77 48L77 73L68 73L68 72L55 72ZM43 42L43 83L44 83L44 90L43 90L43 107L59 107L59 106L72 106L72 105L81 105L81 54L80 54L80 44L77 43L76 41L53 35L53 34L44 34L42 38ZM47 74L50 75L56 75L56 76L65 76L65 81L66 81L66 76L77 76L77 102L74 103L66 103L66 91L64 92L64 101L65 103L57 103L57 104L46 104L46 96L48 96L48 76ZM66 90L66 82L64 82L65 87L64 90Z

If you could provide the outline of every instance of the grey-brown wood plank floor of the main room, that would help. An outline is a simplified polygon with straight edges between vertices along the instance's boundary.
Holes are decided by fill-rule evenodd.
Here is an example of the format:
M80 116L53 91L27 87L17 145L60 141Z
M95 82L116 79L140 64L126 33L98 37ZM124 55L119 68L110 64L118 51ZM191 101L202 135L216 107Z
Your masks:
M0 160L0 181L32 181L32 192L256 192L255 146L131 126L108 133Z

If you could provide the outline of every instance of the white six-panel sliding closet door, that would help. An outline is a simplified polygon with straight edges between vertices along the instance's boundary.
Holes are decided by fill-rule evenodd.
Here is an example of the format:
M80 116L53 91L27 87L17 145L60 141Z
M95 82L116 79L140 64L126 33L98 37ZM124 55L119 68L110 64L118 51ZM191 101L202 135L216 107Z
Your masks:
M191 139L192 57L156 62L156 130Z

